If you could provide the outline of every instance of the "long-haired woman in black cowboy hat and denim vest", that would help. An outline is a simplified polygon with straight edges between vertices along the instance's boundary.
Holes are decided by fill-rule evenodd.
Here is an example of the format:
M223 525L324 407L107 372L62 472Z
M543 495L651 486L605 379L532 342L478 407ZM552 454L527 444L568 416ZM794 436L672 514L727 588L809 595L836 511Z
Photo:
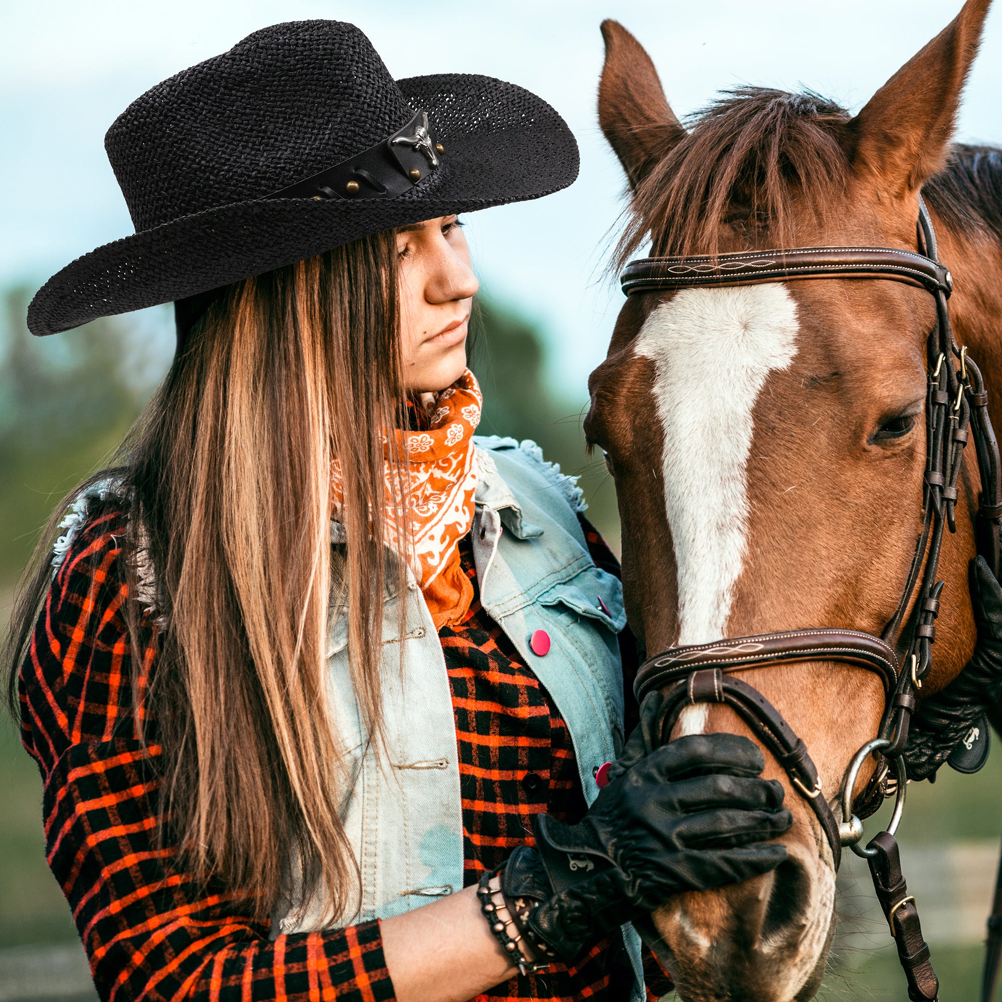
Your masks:
M623 752L614 561L531 443L473 437L456 213L569 184L565 123L308 21L106 146L136 233L29 324L173 301L178 351L11 639L101 997L638 994L624 924L775 867L790 816L743 738Z

